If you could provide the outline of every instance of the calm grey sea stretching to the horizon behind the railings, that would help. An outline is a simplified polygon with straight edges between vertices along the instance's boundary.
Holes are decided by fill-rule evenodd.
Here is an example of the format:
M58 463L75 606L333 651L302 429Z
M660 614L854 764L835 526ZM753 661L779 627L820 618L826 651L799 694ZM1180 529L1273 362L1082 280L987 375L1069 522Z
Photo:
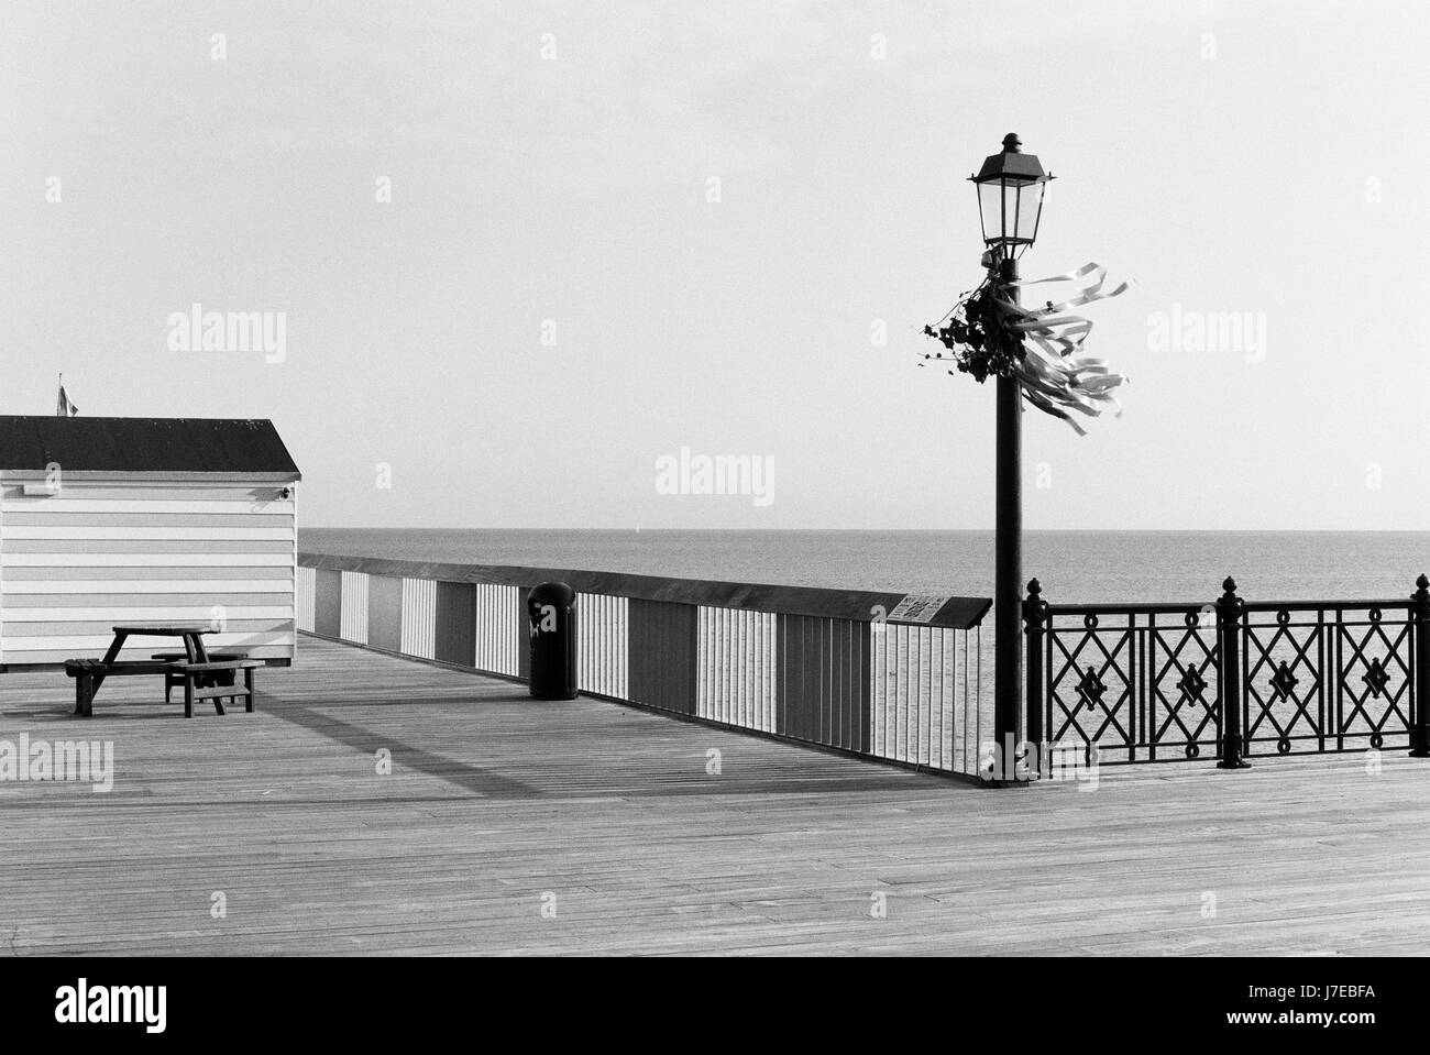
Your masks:
M988 596L991 532L486 530L307 528L299 549L688 579ZM1054 602L1407 596L1430 532L1028 532L1024 575Z

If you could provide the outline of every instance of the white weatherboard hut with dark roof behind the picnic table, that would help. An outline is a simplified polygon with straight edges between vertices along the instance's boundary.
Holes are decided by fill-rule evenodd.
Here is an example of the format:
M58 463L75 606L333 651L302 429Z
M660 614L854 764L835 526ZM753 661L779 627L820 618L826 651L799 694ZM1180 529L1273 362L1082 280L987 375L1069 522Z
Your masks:
M124 623L290 662L299 479L266 420L0 416L0 670L102 656Z

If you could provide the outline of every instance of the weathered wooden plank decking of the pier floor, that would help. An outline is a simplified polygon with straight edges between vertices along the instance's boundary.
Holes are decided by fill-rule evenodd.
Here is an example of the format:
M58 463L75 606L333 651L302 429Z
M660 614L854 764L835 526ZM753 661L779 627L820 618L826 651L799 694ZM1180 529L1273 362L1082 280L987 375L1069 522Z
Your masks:
M123 679L84 720L59 672L0 678L0 738L116 753L107 795L0 782L0 951L1430 946L1430 763L1401 753L990 792L313 639L257 686L257 713L186 722L157 678Z

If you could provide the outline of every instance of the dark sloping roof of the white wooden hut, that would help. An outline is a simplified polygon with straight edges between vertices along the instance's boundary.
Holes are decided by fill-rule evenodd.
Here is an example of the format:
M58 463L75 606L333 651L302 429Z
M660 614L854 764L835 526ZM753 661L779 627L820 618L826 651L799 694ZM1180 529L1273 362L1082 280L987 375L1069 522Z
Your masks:
M0 415L0 470L302 475L269 420Z

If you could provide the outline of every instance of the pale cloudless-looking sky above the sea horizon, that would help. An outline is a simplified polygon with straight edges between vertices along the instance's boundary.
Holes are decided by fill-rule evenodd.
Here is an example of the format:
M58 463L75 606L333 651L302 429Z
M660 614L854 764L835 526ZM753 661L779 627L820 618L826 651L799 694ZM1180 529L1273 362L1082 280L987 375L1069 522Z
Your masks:
M915 362L1014 130L1024 276L1140 283L1028 528L1427 529L1427 53L1421 3L6 0L0 413L272 417L307 526L988 528L992 386ZM283 360L170 350L193 303ZM681 447L774 500L658 493Z

